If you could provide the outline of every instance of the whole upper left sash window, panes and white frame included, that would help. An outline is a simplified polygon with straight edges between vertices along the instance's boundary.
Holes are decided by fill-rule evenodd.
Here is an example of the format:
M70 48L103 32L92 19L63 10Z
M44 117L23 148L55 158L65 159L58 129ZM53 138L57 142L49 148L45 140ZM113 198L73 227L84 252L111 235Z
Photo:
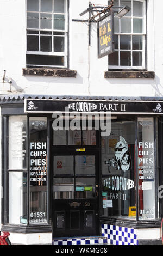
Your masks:
M27 0L27 68L67 66L67 0Z

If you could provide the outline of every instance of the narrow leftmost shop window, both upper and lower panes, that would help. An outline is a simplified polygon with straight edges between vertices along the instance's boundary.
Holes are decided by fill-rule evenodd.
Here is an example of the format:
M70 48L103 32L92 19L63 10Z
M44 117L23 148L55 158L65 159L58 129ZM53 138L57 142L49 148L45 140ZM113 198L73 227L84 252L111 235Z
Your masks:
M27 224L27 117L9 117L8 223Z

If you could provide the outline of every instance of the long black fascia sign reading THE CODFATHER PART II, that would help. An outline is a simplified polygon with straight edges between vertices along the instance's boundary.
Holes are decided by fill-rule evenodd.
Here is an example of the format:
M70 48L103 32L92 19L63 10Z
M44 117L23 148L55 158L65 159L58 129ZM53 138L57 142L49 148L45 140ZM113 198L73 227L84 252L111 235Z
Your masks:
M25 113L111 112L163 114L163 101L33 100L27 99Z

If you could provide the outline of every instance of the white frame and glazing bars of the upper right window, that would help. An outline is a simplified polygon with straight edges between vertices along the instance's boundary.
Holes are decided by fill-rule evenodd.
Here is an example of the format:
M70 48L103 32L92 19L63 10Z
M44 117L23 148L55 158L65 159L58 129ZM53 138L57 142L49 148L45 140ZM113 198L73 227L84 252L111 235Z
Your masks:
M143 3L143 17L133 17L133 1L134 2L142 2ZM119 5L120 5L120 0L118 0ZM115 35L118 35L118 50L115 50L115 52L118 51L118 66L114 65L109 65L109 70L110 69L146 69L146 0L131 0L131 10L130 10L131 15L130 16L124 16L127 19L131 19L131 33L121 33L121 22L120 20L123 19L123 17L118 21L119 22L119 32L115 32ZM143 19L143 32L142 33L133 33L133 19ZM115 19L119 19L118 17L115 17ZM130 50L122 50L120 49L120 35L142 35L142 50L133 50L133 41L132 41L132 36L131 36L131 48ZM130 52L131 54L131 65L130 66L123 66L120 65L120 60L121 60L121 52ZM133 52L142 52L142 65L141 66L133 66Z

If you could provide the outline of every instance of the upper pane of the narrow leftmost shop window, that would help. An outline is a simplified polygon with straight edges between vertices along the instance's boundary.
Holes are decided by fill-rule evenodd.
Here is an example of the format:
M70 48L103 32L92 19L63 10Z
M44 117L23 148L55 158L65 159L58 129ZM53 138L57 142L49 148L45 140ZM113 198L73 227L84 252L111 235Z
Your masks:
M27 117L9 117L9 169L27 168Z

